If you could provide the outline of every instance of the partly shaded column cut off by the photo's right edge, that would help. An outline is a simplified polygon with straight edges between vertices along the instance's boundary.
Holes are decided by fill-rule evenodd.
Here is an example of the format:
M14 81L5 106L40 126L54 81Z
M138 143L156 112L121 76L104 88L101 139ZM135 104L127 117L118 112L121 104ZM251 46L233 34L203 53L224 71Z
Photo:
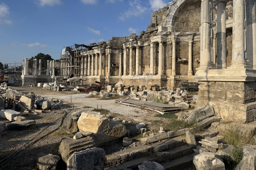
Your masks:
M256 1L246 1L246 52L247 60L256 69ZM253 62L252 62L253 61Z

